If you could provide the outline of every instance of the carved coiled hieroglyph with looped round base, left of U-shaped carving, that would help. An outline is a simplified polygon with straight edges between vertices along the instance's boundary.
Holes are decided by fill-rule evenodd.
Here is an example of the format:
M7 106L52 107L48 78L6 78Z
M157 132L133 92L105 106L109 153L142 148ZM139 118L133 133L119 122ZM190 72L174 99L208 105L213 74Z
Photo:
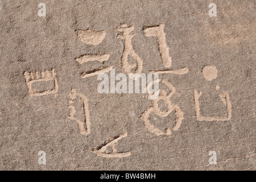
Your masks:
M164 90L160 89L159 97L156 100L152 100L151 107L148 107L148 109L146 111L144 111L144 113L141 116L141 119L144 122L144 126L146 126L148 131L150 131L156 135L171 135L172 132L171 132L170 127L166 128L165 131L162 131L162 130L156 128L154 125L152 125L150 123L150 121L148 120L148 117L151 112L158 115L159 117L164 118L164 117L167 117L171 113L171 111L175 110L176 119L175 119L174 125L172 126L172 130L176 131L177 129L179 129L181 122L184 119L184 117L183 117L184 113L183 113L183 111L181 111L180 107L172 104L170 101L171 96L173 94L175 94L175 92L176 92L174 86L172 86L172 84L170 82L168 82L167 80L162 80L162 82L171 91L167 94ZM160 100L163 100L164 104L166 104L167 111L161 111L159 109L158 101L160 101Z

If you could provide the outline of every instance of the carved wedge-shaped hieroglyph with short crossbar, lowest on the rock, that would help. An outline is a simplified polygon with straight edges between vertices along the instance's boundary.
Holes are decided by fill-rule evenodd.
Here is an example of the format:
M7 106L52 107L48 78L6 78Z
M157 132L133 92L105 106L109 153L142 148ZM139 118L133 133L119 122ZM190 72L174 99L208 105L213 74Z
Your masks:
M117 152L115 148L115 144L118 143L118 140L127 137L127 133L119 135L117 137L110 138L100 147L96 148L93 151L97 156L101 156L103 158L124 158L131 155L131 152ZM110 150L108 153L108 149Z

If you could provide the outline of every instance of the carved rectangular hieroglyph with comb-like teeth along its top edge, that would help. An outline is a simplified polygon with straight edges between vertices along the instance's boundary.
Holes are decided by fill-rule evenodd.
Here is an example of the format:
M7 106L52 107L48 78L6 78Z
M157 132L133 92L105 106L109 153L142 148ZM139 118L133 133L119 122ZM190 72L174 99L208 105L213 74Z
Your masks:
M24 78L26 80L28 93L30 96L45 96L48 94L57 93L59 89L59 85L57 84L57 78L55 70L52 69L51 71L42 71L40 72L31 72L28 73L27 71L24 73ZM44 90L44 91L38 91L35 89L32 89L32 83L35 82L46 82L46 81L53 81L53 89L52 90Z

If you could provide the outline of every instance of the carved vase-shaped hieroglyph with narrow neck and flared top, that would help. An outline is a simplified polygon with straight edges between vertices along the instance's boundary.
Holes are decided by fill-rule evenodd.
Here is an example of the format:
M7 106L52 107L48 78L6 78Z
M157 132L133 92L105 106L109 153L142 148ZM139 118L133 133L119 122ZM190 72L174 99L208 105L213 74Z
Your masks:
M130 35L130 32L134 30L134 26L127 26L127 24L122 24L121 26L117 27L117 31L122 32L122 35L118 35L117 38L123 40L124 48L122 53L122 67L123 71L125 71L126 75L129 75L131 73L131 69L135 69L134 73L141 74L142 67L143 67L143 61L141 58L135 53L133 50L133 45L131 44L131 39L135 35ZM128 55L134 58L134 60L137 62L137 64L130 64L128 63Z

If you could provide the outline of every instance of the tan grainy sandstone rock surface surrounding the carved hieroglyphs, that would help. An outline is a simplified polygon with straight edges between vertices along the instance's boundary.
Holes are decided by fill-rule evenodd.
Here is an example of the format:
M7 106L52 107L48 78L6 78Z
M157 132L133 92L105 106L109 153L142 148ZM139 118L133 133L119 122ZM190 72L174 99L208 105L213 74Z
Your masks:
M46 17L38 4L46 4ZM209 17L209 3L217 16ZM255 1L5 1L0 2L0 169L1 170L255 170ZM117 38L122 23L134 26L134 51L143 60L143 73L165 69L155 37L143 27L164 23L171 69L187 67L185 75L160 75L176 93L171 102L184 112L172 135L156 136L143 125L141 115L151 105L146 94L100 94L97 76L80 73L113 65L122 73L123 42ZM77 39L75 30L106 31L105 39L90 46ZM109 53L104 63L79 64L85 53ZM207 81L205 65L214 65L218 77ZM24 72L55 69L56 94L30 96ZM216 90L216 85L220 89ZM37 89L42 85L35 85ZM43 85L47 86L47 85ZM160 85L161 88L161 85ZM86 96L90 134L79 133L68 119L71 89ZM202 91L201 114L225 115L218 98L229 93L229 121L197 121L193 91ZM164 109L164 102L159 102ZM150 116L163 130L175 121ZM125 158L102 158L92 152L106 140L127 132L116 145ZM46 152L46 165L38 152ZM208 164L216 151L217 164Z

